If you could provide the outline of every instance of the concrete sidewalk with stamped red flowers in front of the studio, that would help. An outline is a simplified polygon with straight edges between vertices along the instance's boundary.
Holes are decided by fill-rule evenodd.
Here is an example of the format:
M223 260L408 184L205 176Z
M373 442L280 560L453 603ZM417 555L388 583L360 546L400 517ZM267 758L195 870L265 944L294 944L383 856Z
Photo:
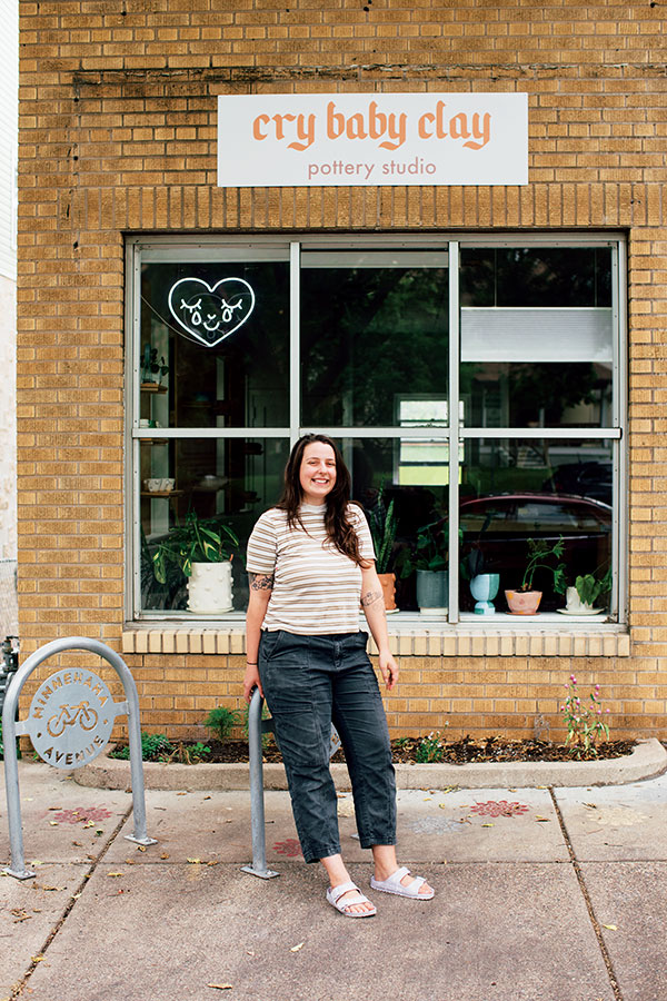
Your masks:
M31 1001L665 1001L667 776L575 789L401 790L399 858L431 902L369 895L374 919L325 901L288 794L266 794L269 864L250 861L242 791L131 795L20 764L26 859L0 880L0 999ZM0 801L3 803L3 801ZM344 853L369 853L339 800ZM9 861L4 807L0 859ZM231 984L231 987L226 987ZM12 988L18 985L18 993Z

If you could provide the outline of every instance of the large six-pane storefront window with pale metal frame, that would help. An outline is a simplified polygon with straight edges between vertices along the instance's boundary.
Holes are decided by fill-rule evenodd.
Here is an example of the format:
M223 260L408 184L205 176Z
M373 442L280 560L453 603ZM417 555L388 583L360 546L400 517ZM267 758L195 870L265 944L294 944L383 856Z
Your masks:
M396 623L488 623L486 574L516 624L505 592L536 545L560 573L536 572L534 621L621 620L621 255L545 235L131 242L129 616L241 620L248 535L290 444L325 430L386 524ZM211 559L231 595L190 576ZM566 602L584 577L593 608Z

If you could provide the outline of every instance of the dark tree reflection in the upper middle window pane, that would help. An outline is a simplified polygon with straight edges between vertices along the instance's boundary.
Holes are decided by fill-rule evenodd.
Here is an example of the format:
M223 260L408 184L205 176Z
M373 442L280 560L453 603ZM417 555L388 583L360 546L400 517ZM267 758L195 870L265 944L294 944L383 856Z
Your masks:
M394 425L397 380L447 392L444 268L321 268L301 275L307 424Z

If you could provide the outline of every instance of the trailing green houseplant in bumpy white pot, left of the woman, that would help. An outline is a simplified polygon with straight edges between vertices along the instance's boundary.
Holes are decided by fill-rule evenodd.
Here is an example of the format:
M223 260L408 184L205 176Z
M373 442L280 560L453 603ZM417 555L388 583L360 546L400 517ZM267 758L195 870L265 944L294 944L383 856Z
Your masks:
M218 615L233 607L231 586L232 549L239 541L220 518L200 521L188 512L185 524L176 525L153 554L153 572L161 584L167 563L176 563L188 577L188 608L199 615Z

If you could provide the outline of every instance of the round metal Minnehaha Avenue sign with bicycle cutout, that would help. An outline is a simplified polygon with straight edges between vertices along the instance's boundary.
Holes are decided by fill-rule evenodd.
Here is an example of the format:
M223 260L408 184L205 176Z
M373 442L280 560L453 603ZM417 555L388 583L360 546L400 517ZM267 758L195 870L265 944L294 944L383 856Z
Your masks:
M58 671L34 693L26 729L43 761L79 769L107 746L115 718L113 698L101 677L90 671Z

